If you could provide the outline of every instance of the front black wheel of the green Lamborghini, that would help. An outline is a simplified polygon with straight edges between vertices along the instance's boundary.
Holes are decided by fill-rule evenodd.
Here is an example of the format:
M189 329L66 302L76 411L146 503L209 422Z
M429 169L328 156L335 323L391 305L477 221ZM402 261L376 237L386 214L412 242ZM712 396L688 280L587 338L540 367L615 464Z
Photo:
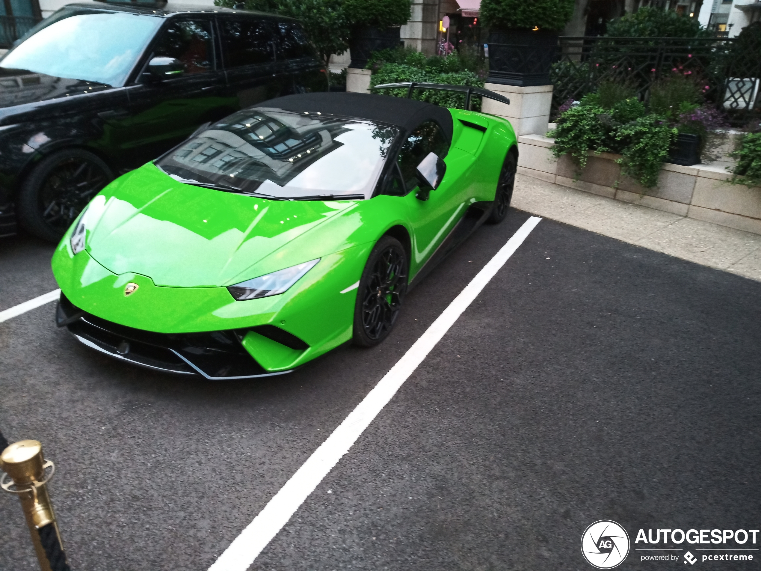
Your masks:
M407 290L407 254L396 238L375 244L362 272L354 310L354 343L371 347L393 328Z

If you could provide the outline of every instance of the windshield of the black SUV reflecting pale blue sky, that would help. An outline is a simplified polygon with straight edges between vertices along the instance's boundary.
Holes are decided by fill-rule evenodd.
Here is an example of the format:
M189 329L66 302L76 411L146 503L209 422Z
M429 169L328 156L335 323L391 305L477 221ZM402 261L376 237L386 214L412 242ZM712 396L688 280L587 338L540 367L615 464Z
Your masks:
M152 16L73 13L27 37L0 67L120 86L160 26Z

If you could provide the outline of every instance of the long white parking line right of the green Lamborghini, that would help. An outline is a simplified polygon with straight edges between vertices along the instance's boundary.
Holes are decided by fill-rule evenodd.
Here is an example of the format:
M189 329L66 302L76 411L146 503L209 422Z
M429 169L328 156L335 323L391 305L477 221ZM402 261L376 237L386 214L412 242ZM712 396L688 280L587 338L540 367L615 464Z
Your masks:
M314 492L317 485L333 469L349 448L355 443L373 419L388 404L404 381L428 356L457 318L473 302L477 295L505 265L528 234L539 224L540 218L531 216L512 238L489 260L489 263L465 286L460 295L425 330L404 356L380 379L372 391L349 413L344 421L323 442L304 464L269 500L264 509L253 518L247 528L224 550L209 571L246 571L253 560L267 547L272 538L296 510Z

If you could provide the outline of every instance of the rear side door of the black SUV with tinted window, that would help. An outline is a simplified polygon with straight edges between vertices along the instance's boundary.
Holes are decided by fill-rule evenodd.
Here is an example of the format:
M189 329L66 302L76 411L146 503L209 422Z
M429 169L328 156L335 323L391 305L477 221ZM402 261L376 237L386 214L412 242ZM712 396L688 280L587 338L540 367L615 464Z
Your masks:
M226 97L243 109L288 93L291 70L275 57L277 23L272 18L237 14L219 16L217 21Z

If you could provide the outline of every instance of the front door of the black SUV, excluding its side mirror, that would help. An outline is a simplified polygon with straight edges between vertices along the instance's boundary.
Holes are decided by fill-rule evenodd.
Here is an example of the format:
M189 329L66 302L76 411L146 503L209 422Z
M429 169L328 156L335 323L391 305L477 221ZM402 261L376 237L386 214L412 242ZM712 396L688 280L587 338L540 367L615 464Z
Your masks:
M224 71L218 65L212 24L204 14L171 18L148 50L144 71L127 90L125 150L133 163L156 158L202 123L234 111L234 102L224 97ZM178 59L183 73L161 81L151 78L146 68L154 57Z

